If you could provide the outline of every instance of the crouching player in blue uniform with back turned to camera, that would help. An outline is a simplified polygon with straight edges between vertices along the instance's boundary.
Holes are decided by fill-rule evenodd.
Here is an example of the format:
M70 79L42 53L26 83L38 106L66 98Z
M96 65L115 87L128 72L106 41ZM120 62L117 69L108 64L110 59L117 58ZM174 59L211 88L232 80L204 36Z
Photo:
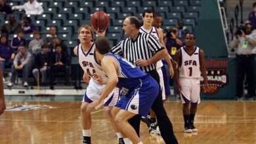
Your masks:
M128 120L137 114L148 115L152 103L158 96L158 82L121 56L110 53L110 42L106 37L98 37L95 45L96 56L100 60L103 71L108 75L108 81L100 98L87 105L87 110L91 111L110 94L115 86L120 89L125 88L127 95L121 98L113 109L116 111L115 122L121 132L133 143L141 144L142 141Z

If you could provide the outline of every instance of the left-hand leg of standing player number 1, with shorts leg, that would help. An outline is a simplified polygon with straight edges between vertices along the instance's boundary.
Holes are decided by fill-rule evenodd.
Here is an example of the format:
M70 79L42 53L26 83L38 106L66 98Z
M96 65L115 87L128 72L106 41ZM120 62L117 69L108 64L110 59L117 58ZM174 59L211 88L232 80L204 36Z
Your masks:
M192 132L190 128L190 110L189 110L189 103L190 103L190 81L189 79L179 79L179 83L181 85L181 102L183 104L182 106L182 113L184 118L184 132Z

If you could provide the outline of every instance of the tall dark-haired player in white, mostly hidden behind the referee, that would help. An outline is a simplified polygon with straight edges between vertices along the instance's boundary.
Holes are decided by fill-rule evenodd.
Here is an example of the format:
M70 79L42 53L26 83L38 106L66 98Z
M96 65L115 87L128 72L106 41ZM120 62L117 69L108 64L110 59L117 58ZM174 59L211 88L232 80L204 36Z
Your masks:
M140 33L149 33L151 35L154 35L156 39L165 47L165 44L163 42L163 31L161 29L158 29L154 26L152 26L152 23L154 21L154 12L153 10L146 9L142 13L142 20L143 20L143 25L140 27ZM158 61L156 63L156 70L158 71L158 75L160 77L160 90L161 90L161 96L163 100L165 100L165 84L163 82L163 72L161 67L163 67L163 62ZM173 67L170 67L169 69L171 77L173 76ZM151 134L160 134L156 130L156 114L154 111L150 110L150 117L145 118L142 117L142 121L147 124L148 127L150 127L149 132ZM152 124L153 123L153 124ZM151 126L150 126L151 125Z

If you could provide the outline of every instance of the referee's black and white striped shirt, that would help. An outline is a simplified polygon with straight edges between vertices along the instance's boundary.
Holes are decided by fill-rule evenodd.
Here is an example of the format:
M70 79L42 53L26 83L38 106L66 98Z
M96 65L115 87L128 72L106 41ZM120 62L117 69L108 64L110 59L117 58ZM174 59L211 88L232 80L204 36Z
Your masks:
M111 49L111 52L123 56L123 58L135 65L136 60L148 60L162 49L163 46L161 46L156 37L148 33L139 33L135 41L130 37L122 40ZM152 71L156 69L156 63L140 67L140 69L144 72Z

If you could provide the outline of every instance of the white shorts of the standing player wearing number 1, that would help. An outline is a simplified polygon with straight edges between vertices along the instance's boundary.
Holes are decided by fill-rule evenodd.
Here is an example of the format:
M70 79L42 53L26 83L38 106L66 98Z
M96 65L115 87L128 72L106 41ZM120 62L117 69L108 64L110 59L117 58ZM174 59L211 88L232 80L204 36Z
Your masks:
M200 79L179 78L182 103L200 103Z

